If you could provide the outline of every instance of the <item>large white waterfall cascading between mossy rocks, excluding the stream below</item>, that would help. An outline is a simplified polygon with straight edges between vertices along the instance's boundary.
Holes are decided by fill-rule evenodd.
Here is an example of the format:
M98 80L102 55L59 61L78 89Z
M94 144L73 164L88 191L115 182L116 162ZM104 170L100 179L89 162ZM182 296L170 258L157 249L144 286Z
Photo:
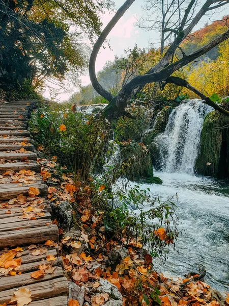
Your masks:
M165 132L156 138L164 172L194 174L204 117L212 110L201 99L192 99L171 112Z

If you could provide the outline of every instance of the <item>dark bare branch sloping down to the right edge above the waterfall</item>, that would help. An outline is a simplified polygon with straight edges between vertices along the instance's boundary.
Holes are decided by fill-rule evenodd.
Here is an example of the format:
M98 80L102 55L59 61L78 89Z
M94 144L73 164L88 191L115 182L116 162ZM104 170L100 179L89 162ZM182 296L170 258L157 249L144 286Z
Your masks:
M219 111L220 113L222 113L226 116L229 116L229 112L227 110L225 110L224 108L222 108L218 104L214 103L209 97L204 95L202 92L198 91L198 89L196 89L195 87L191 86L187 81L185 81L181 78L177 78L177 77L169 77L165 82L166 82L166 84L173 83L173 84L176 84L178 86L186 87L187 89L193 91L195 94L197 94L199 97L201 97L202 100L204 100L207 105L213 107L214 110Z

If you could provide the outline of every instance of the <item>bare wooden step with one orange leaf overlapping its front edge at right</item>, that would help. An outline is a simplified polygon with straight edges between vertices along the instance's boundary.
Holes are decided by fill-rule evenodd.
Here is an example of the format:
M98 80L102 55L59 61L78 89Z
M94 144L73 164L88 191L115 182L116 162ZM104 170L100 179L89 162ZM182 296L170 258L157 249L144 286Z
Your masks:
M10 185L9 187L6 185ZM19 194L23 194L25 196L28 196L28 189L30 187L37 187L40 191L39 196L45 196L48 193L48 186L46 184L27 184L22 186L14 186L16 184L2 184L0 185L0 200L8 200L12 198L16 198Z

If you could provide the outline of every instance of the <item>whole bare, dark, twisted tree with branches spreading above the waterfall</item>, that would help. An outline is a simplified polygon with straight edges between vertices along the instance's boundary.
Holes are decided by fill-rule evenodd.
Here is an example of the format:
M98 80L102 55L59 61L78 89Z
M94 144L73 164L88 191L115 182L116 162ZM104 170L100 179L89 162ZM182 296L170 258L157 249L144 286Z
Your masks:
M209 50L217 46L219 43L229 38L229 30L227 30L223 34L214 38L209 43L195 50L193 53L189 55L185 55L184 53L182 53L183 57L181 59L174 59L174 54L176 50L181 48L180 44L184 41L185 38L187 38L188 35L191 34L193 28L196 24L198 24L199 20L201 20L201 18L207 12L214 12L214 10L228 4L229 0L207 0L202 5L202 7L199 8L198 11L196 11L196 0L190 0L188 3L186 3L185 9L179 10L179 27L177 27L177 24L175 24L175 28L168 29L168 32L175 34L174 40L168 45L164 55L155 66L151 67L147 73L138 75L137 77L133 78L119 91L116 96L113 96L112 94L107 92L99 84L95 74L95 61L99 49L111 29L115 26L115 24L128 10L128 8L133 2L134 0L127 0L124 5L117 11L115 16L113 16L113 18L110 20L110 22L107 24L107 26L101 33L92 50L89 66L91 82L95 90L109 101L109 104L104 109L103 114L110 120L124 115L133 118L133 116L125 110L130 98L146 84L159 82L161 83L162 88L168 83L173 83L178 86L186 87L193 91L195 94L197 94L199 97L201 97L206 104L212 106L215 110L218 110L225 115L229 115L228 111L221 108L219 105L213 103L213 101L209 97L199 92L196 88L188 84L187 81L178 77L174 77L172 75L175 71L179 70L180 68L184 67L195 59L201 57ZM179 9L180 2L178 2L177 5Z

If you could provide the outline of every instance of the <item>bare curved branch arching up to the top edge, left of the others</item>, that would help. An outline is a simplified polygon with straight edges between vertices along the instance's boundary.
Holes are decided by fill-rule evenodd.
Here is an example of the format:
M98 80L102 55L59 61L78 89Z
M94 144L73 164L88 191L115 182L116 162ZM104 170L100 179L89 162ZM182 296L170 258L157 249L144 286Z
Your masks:
M123 16L123 14L129 9L131 4L135 0L127 0L123 6L116 12L115 16L110 20L110 22L107 24L105 29L102 31L101 35L99 36L98 40L96 41L94 48L92 50L92 54L90 57L89 62L89 74L90 79L92 82L93 87L95 90L103 96L105 99L107 99L109 102L112 100L113 95L109 93L107 90L105 90L98 82L96 78L96 72L95 72L95 62L96 58L99 52L100 47L102 46L104 40L106 39L107 35L110 33L110 31L115 27L116 23L119 21L119 19Z

